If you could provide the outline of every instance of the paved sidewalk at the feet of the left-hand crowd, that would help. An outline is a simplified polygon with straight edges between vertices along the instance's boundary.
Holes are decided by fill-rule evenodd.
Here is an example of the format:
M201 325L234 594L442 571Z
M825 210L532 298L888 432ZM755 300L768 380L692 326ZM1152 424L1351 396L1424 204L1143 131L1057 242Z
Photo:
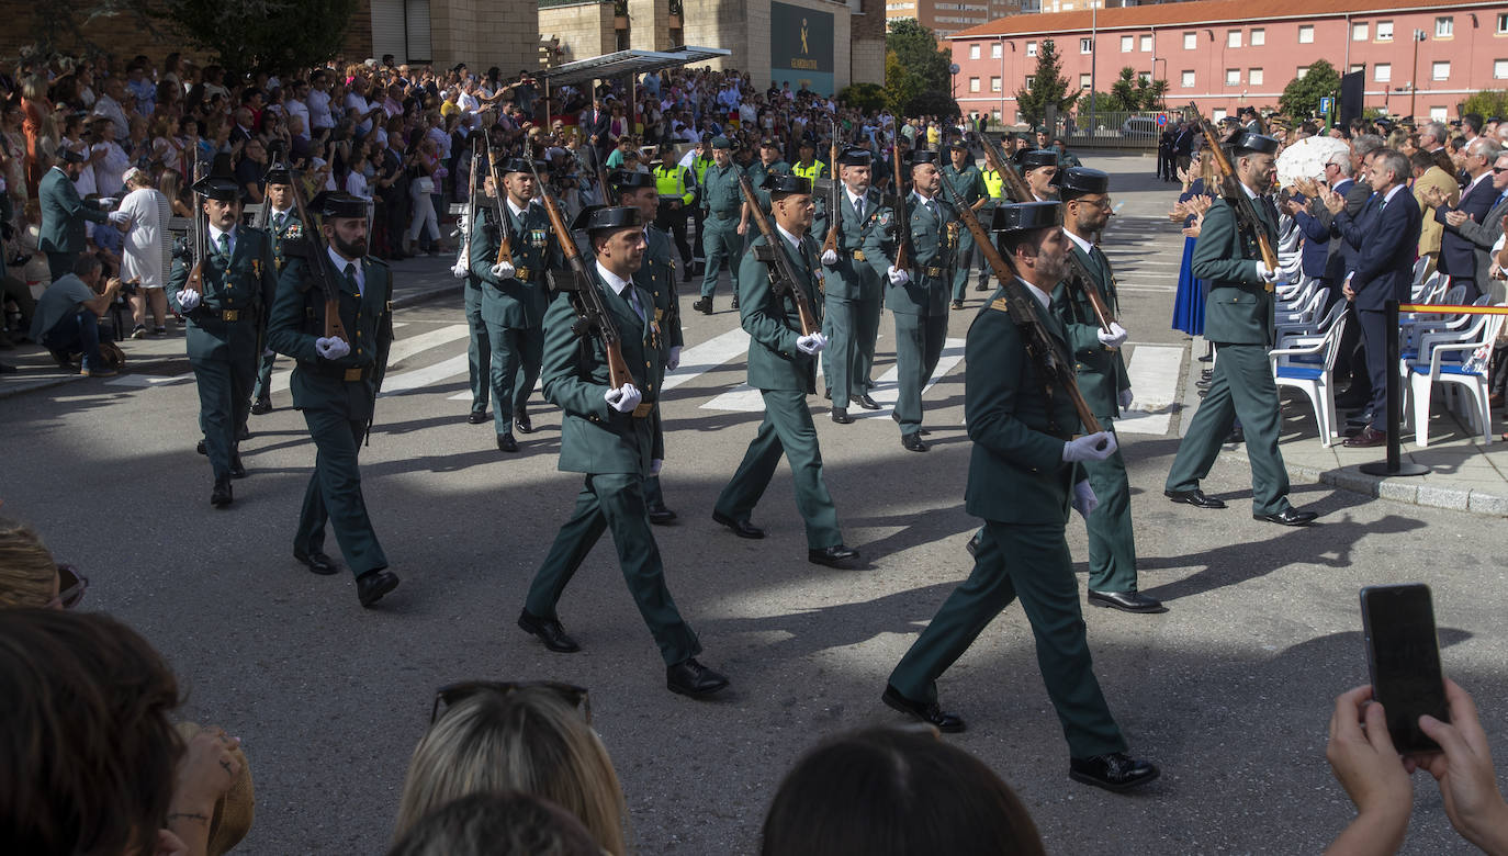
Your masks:
M433 258L415 256L392 262L394 309L401 310L404 306L458 294L461 280L451 274L452 264L455 264L454 253ZM125 315L125 326L130 332L130 313ZM122 377L131 374L167 377L188 371L182 327L172 319L167 321L166 336L127 339L121 342L121 348L125 351ZM51 354L41 345L17 345L14 351L0 351L0 362L20 369L14 374L0 374L0 399L74 381L104 383L98 378L80 377L77 371L59 368Z

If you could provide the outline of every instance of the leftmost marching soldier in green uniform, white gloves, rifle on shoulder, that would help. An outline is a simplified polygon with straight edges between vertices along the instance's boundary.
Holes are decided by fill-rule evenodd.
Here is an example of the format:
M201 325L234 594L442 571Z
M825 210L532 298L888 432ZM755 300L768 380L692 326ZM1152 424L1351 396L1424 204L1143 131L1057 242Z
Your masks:
M225 508L234 499L231 478L246 476L237 433L252 404L262 315L277 291L277 271L271 237L240 225L241 196L234 181L205 178L193 190L208 219L208 252L202 259L173 259L167 300L176 301L188 324L199 430L214 470L210 505Z

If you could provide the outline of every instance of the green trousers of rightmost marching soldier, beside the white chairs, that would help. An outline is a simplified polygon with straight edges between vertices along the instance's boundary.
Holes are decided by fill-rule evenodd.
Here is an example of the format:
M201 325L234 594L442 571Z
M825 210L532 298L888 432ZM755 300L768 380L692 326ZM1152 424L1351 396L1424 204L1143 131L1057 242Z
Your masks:
M1167 490L1197 490L1209 475L1235 417L1252 461L1252 512L1277 514L1288 505L1288 470L1277 451L1279 399L1267 345L1217 345L1209 392L1199 402L1188 434L1167 472Z

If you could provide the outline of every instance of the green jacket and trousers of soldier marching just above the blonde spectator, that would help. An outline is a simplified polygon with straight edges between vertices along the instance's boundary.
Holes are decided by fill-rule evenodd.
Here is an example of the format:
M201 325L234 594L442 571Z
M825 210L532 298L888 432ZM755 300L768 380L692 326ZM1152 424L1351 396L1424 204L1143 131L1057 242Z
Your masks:
M544 564L540 565L525 609L541 618L558 618L556 603L576 570L587 559L605 530L612 530L618 564L639 613L659 645L665 665L676 665L701 653L697 634L682 619L665 586L664 564L650 530L644 500L644 478L650 461L659 458L659 420L653 404L662 375L661 336L654 324L650 294L638 286L641 316L629 298L620 297L593 270L591 288L618 329L623 359L633 375L633 386L644 395L642 416L618 413L608 405L608 357L594 333L578 336L573 298L556 300L544 316L544 398L562 410L561 455L564 472L585 473L576 509L561 526Z

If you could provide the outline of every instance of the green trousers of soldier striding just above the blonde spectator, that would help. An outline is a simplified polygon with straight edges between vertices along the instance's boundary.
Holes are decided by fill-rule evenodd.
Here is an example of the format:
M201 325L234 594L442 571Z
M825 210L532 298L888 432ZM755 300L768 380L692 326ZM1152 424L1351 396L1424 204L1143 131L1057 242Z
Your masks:
M529 583L523 607L540 618L556 618L555 604L576 570L591 553L603 530L612 530L618 565L629 583L629 594L659 645L667 666L701 653L701 642L676 609L665 588L665 565L650 532L644 479L636 473L588 475L576 496L576 511L561 526L544 564Z

